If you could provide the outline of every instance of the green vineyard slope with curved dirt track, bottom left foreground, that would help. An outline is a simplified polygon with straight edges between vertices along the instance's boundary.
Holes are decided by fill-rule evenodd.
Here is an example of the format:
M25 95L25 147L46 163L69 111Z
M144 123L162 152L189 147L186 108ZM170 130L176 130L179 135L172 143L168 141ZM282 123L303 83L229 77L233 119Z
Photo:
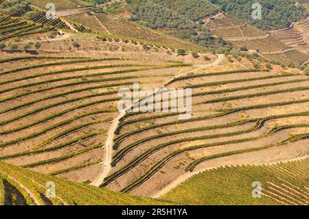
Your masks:
M56 195L46 195L54 183ZM166 205L0 163L0 205ZM169 202L170 204L170 202Z

